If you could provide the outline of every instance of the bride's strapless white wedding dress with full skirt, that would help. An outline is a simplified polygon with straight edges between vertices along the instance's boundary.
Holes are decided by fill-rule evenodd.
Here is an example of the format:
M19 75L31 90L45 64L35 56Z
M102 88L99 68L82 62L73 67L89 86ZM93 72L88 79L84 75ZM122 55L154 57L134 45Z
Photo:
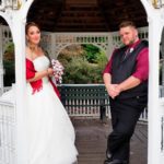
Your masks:
M49 67L45 56L33 63L36 71ZM27 83L28 164L73 164L78 155L74 129L48 78L43 78L40 91L32 93Z

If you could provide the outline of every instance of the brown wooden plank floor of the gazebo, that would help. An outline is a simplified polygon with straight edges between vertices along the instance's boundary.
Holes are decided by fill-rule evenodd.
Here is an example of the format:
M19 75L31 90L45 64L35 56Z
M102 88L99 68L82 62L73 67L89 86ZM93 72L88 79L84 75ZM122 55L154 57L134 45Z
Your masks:
M112 130L110 120L72 119L79 151L78 164L103 164L107 136ZM138 124L131 139L130 164L147 164L147 125Z

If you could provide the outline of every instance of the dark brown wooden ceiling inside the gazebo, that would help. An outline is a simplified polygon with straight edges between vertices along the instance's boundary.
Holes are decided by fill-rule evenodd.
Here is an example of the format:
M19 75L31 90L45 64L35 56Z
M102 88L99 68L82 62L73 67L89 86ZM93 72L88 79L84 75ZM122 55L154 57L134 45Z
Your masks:
M34 0L27 15L47 32L113 32L122 20L148 25L140 0Z

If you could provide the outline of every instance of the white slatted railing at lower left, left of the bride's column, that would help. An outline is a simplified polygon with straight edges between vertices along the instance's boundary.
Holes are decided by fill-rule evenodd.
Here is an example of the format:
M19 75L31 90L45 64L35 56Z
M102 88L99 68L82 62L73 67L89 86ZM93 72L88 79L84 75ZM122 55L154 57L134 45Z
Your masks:
M12 103L0 101L0 164L15 164L15 110Z

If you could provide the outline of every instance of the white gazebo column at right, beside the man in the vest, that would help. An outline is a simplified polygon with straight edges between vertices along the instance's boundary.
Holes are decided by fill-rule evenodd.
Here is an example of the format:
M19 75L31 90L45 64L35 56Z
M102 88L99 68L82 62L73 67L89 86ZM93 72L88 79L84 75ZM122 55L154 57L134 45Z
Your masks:
M164 24L162 7L154 9L151 1L141 0L149 22L149 137L148 137L148 164L162 164L163 161L163 104L160 98L159 90L159 61L160 42ZM156 2L156 1L155 1Z

